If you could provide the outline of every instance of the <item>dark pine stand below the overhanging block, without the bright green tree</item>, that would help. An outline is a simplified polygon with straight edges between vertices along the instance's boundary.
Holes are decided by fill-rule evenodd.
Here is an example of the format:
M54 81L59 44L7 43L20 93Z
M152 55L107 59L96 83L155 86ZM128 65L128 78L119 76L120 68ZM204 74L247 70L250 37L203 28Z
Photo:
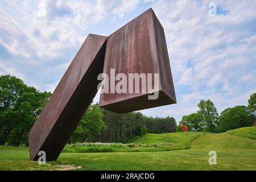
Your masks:
M140 112L117 114L102 109L103 121L106 125L93 142L132 142L146 133L171 133L176 131L173 117L147 117Z

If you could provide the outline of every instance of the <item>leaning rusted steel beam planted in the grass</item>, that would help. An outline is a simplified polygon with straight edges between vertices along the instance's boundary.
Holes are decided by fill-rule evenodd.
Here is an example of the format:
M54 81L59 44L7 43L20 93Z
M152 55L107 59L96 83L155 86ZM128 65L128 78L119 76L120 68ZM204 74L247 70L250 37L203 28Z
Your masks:
M106 36L89 34L30 130L30 160L56 160L97 93Z

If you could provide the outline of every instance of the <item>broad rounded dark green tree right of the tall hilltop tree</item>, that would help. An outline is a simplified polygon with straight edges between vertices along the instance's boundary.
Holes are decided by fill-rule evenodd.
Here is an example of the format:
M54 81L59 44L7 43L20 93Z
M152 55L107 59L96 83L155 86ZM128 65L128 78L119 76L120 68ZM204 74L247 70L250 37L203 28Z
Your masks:
M240 127L252 126L252 123L253 118L250 115L249 109L246 106L235 106L221 112L219 130L224 132Z

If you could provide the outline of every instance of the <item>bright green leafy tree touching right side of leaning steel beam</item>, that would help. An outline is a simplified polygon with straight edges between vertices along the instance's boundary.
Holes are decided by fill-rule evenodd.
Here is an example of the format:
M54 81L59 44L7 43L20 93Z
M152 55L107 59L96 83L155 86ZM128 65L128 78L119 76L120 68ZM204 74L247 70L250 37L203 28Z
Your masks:
M91 141L106 127L104 121L102 121L102 118L103 113L98 106L98 103L90 104L76 130L72 134L70 142Z

